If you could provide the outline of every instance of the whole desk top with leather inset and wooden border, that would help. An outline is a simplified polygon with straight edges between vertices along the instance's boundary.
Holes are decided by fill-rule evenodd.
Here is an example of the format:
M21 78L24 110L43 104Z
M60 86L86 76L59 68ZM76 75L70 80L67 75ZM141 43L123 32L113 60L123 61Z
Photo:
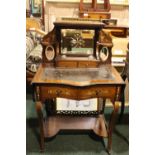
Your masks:
M90 86L124 84L124 81L111 65L102 65L99 68L55 68L40 65L32 84Z

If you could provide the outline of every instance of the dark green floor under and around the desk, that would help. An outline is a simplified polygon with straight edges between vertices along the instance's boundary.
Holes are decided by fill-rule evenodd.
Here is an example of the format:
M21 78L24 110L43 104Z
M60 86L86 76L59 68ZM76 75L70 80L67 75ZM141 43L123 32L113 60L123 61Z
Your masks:
M26 150L27 155L107 155L103 140L93 133L64 133L45 142L45 152L39 152L39 130L35 104L27 93L26 99ZM110 107L105 108L109 119ZM113 133L112 155L129 154L129 109L126 107L121 123L117 123ZM106 143L106 138L104 139Z

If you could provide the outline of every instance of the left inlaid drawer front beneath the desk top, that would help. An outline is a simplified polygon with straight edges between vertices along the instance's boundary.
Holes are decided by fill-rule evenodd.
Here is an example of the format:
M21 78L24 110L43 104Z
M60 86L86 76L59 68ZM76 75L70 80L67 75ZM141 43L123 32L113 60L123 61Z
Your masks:
M56 97L77 99L77 90L68 87L59 87L59 86L42 86L41 90L41 100L52 99Z

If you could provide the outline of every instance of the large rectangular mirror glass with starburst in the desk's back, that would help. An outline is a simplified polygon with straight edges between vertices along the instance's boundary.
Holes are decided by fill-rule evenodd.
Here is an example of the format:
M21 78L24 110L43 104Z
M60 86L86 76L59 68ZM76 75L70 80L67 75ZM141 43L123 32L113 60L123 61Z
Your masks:
M94 30L61 29L61 54L92 55Z

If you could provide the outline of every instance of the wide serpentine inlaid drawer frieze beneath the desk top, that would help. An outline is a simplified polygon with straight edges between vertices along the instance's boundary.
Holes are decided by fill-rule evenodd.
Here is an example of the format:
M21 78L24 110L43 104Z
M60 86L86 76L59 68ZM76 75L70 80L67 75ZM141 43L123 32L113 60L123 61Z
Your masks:
M53 99L56 97L84 100L90 98L109 98L115 99L115 86L91 86L91 87L71 87L71 86L40 86L41 101L46 99Z

